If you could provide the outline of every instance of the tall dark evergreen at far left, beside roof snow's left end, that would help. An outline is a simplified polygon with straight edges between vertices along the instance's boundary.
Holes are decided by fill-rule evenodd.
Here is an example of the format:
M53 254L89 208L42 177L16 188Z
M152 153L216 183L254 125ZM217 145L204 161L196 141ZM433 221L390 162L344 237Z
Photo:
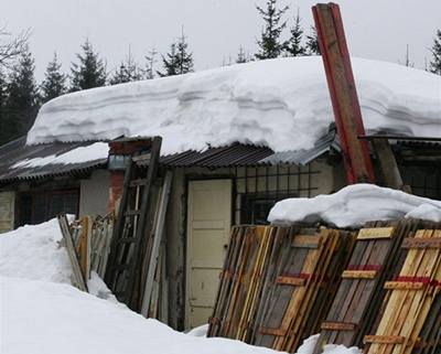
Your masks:
M8 125L3 132L8 140L26 133L35 120L40 97L34 69L34 60L26 46L9 75L6 101Z

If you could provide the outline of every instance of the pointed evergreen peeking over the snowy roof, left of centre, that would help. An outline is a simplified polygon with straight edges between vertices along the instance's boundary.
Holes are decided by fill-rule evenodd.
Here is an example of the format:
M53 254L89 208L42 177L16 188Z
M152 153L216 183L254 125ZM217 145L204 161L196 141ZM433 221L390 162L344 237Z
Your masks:
M157 72L159 76L181 75L193 72L193 53L189 52L189 43L184 33L170 46L166 57L162 55L164 72Z

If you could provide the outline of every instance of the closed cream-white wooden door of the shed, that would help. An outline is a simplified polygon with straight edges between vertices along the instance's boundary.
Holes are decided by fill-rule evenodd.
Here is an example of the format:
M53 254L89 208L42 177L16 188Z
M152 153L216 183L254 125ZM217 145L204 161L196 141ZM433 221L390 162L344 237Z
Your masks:
M187 205L186 326L212 315L232 225L232 180L191 181Z

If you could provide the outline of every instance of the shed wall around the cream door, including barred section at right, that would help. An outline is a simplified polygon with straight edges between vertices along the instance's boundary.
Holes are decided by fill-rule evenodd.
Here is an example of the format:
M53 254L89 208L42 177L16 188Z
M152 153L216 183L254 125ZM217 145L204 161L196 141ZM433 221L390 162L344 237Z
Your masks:
M187 181L201 179L232 179L234 205L233 223L239 224L244 195L314 196L330 193L342 184L340 174L326 160L316 160L305 167L259 168L179 168L174 169L166 215L166 250L169 276L169 324L184 330L185 319L185 251Z

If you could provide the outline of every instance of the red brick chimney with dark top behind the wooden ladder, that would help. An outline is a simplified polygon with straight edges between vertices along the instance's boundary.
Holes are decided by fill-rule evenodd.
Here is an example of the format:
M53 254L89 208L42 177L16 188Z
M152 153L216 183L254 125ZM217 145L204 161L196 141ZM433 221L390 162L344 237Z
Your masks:
M149 138L122 138L109 142L109 204L107 211L118 212L119 200L122 196L125 170L132 155L150 150Z

